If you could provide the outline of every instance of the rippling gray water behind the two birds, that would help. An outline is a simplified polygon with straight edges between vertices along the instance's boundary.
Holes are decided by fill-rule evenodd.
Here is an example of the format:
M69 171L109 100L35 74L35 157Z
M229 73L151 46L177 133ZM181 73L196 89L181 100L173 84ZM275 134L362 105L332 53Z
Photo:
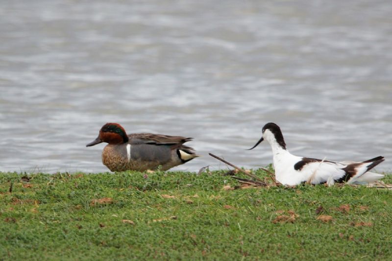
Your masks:
M194 137L172 170L266 166L269 121L296 155L392 168L392 2L0 3L0 171L86 171L106 122Z

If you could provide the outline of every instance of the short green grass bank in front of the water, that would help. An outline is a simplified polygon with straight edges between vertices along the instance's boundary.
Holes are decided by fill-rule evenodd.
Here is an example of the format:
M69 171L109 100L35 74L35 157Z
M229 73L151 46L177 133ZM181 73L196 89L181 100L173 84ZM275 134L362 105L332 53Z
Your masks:
M223 190L224 172L0 173L0 260L391 259L392 190Z

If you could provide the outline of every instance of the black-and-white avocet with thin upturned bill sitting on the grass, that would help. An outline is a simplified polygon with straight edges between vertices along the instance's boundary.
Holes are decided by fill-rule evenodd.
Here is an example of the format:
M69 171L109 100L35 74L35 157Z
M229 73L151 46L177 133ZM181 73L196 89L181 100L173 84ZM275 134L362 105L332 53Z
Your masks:
M250 149L255 148L263 140L269 142L272 148L276 180L287 186L303 182L327 183L329 186L335 182L366 184L384 177L383 174L368 172L384 161L382 156L363 162L333 162L294 156L286 149L279 126L272 122L264 125L261 139Z

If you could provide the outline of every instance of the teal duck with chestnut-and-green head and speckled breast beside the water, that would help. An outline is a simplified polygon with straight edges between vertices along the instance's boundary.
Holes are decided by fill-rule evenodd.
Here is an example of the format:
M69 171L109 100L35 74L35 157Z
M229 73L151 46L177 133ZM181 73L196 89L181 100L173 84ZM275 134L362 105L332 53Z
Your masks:
M97 139L86 147L107 142L102 150L102 163L110 171L153 171L159 166L165 171L199 157L193 148L184 145L192 139L152 133L127 135L119 123L108 122L99 130Z

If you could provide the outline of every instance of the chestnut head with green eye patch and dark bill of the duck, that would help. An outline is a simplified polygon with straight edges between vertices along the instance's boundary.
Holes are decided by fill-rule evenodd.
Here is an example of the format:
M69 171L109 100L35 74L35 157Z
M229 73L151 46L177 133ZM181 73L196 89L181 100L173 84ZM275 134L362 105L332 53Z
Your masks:
M119 123L106 123L99 130L97 139L88 143L86 147L94 146L101 142L122 144L128 142L128 136L126 135L124 128Z

